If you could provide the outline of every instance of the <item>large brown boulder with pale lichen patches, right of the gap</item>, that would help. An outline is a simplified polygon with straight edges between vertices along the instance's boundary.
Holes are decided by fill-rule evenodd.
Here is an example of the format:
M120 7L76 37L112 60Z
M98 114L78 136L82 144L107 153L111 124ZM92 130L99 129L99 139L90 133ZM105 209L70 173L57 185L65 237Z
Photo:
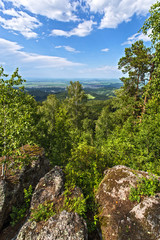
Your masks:
M106 172L96 199L104 240L160 240L160 194L129 200L130 187L148 173L115 166Z

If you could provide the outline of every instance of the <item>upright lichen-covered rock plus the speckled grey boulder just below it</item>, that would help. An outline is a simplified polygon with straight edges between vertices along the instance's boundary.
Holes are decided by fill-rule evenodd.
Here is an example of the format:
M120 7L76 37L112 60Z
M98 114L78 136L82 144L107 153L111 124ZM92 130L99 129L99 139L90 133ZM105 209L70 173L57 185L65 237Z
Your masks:
M56 209L47 221L36 222L28 219L16 240L87 240L86 222L77 213L61 211L63 206L64 175L59 167L54 167L40 179L35 188L31 209L39 204L53 203ZM75 191L77 192L77 191ZM31 214L32 217L32 214Z

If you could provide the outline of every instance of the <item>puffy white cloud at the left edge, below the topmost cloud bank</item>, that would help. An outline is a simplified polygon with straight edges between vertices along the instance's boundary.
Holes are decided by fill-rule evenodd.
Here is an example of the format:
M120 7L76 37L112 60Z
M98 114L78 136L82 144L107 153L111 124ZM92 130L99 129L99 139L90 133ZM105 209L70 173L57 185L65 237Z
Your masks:
M38 36L33 30L42 24L35 17L14 9L3 10L2 12L12 16L10 19L0 16L0 24L3 28L20 32L26 38L36 38Z

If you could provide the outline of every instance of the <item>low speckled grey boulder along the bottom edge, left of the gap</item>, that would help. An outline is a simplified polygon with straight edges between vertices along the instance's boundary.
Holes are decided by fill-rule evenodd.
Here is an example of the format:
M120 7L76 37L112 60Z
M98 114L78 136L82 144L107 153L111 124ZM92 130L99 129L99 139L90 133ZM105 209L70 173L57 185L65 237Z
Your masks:
M27 222L16 240L87 240L87 226L77 213L65 210L49 218L41 227L36 222Z

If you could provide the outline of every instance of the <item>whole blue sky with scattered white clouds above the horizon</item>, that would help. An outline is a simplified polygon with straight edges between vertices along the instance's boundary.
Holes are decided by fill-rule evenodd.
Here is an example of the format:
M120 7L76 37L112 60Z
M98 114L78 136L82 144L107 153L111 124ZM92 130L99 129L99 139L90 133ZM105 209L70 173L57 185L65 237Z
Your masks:
M155 0L0 0L0 66L30 78L119 78Z

